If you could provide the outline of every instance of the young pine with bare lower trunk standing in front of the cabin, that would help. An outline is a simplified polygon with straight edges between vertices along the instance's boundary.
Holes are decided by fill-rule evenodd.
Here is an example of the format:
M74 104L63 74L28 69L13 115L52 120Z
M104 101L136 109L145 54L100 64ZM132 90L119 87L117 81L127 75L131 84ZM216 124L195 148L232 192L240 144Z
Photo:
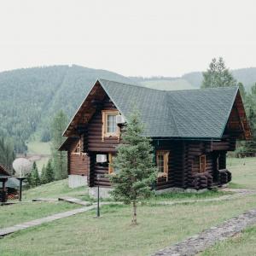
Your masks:
M152 194L151 186L157 172L151 141L142 134L139 114L132 113L122 136L124 143L119 145L118 154L113 159L113 168L118 172L110 176L113 197L125 204L132 204L132 224L137 224L137 202Z

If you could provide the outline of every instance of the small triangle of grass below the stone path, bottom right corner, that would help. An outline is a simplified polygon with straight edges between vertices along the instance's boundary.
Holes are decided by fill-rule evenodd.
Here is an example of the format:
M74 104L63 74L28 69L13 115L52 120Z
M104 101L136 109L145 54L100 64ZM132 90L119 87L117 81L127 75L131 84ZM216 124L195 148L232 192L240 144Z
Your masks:
M218 243L217 245L209 248L201 256L255 256L256 255L256 226L248 228L227 241Z

